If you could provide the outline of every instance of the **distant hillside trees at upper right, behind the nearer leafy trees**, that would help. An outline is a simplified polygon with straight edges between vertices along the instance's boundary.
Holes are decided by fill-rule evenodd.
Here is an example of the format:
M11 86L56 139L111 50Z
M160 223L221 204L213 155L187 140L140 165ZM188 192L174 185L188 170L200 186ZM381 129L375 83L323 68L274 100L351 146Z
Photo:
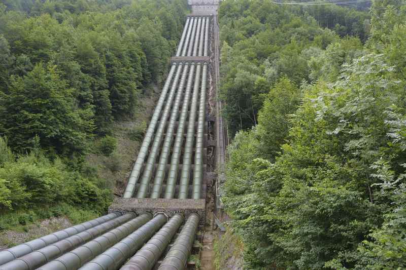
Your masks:
M361 54L367 18L366 12L335 5L223 1L220 98L231 134L257 124L262 96L280 78L296 85L322 77L335 80L341 64ZM354 37L341 40L340 35Z

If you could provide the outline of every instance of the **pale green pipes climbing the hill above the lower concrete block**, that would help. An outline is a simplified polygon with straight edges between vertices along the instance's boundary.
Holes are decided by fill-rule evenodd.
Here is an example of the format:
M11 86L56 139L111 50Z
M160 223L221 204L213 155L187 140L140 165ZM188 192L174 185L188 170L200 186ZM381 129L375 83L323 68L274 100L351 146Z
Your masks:
M187 18L176 56L208 56L209 22L210 18L204 16ZM148 195L153 199L160 198L161 196L165 199L175 198L178 171L180 164L182 164L178 198L187 199L190 197L192 199L201 199L207 65L207 62L195 63L193 61L184 63L175 62L172 64L141 145L139 155L131 170L123 198L131 198L134 194L134 197L140 199L147 198ZM198 122L197 129L195 130L196 115L198 115ZM178 125L176 125L178 117L179 121ZM186 141L182 149L185 128ZM175 131L176 136L174 138ZM195 134L196 142L194 142ZM194 144L196 145L195 163L193 176L190 179ZM182 152L183 160L180 163ZM170 167L166 175L169 160ZM143 168L144 162L145 166ZM149 187L153 176L152 190L149 194ZM166 188L162 190L165 179ZM193 186L189 196L190 180L192 180ZM139 184L137 185L138 182ZM137 186L138 190L135 192Z

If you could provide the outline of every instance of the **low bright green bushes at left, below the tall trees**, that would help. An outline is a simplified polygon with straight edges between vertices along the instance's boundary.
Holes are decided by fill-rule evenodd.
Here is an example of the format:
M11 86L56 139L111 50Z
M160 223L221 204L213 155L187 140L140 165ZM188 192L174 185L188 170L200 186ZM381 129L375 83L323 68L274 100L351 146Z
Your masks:
M0 167L0 210L23 209L57 202L87 205L103 212L111 191L71 171L60 159L49 161L41 154L20 156Z

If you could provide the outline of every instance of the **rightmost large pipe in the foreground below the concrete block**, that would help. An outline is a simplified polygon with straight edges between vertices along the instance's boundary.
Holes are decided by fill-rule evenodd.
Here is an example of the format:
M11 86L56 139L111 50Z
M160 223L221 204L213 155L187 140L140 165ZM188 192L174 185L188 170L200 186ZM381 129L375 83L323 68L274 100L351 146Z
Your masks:
M191 214L183 226L174 245L166 253L158 270L184 270L186 269L187 258L192 250L197 227L199 225L199 216Z

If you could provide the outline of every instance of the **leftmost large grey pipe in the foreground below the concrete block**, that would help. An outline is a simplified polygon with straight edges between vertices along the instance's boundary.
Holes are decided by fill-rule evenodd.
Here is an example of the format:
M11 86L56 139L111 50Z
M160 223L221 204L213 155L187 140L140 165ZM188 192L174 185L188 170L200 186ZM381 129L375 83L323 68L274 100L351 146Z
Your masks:
M18 246L0 251L0 265L5 264L9 261L12 261L18 257L24 256L32 251L36 251L40 248L46 247L50 244L56 243L60 240L63 240L67 237L73 236L75 234L81 233L86 229L89 229L91 227L97 226L101 223L107 222L109 220L112 220L113 218L116 218L118 216L121 216L120 212L113 212L111 214L101 216L86 222L83 222L81 224L59 230L56 233L43 236L41 238L26 242L24 244L20 244Z

